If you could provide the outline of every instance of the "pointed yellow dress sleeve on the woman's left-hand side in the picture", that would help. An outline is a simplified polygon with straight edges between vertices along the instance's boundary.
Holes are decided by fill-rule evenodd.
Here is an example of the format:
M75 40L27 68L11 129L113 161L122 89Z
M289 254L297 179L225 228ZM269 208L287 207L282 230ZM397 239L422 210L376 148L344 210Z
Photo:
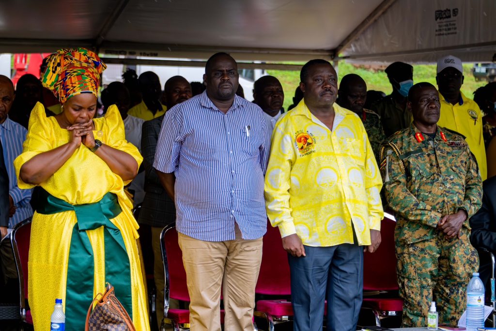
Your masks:
M33 156L54 148L54 128L47 119L45 107L37 102L29 117L28 133L24 140L22 153L14 160L17 185L20 189L31 189L36 185L27 184L19 177L19 172L24 163Z

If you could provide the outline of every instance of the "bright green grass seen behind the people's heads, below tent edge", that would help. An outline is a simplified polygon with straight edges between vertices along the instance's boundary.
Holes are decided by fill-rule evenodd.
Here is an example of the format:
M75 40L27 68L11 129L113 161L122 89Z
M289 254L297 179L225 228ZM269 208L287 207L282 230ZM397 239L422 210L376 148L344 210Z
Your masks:
M435 68L435 65L414 65L414 83L427 81L434 84L434 86L437 86L435 83ZM267 73L277 77L281 81L284 89L284 108L288 109L288 106L293 103L295 88L300 83L300 71L267 70ZM389 80L383 69L374 70L366 66L354 66L349 63L340 62L338 66L338 76L343 77L348 73L356 73L364 78L367 83L367 89L369 90L382 91L386 94L391 93L391 84L389 84ZM478 87L487 84L486 81L475 81L475 78L472 75L472 64L463 65L463 74L465 80L461 90L468 98L473 97L473 93ZM338 81L340 81L340 79L338 79Z

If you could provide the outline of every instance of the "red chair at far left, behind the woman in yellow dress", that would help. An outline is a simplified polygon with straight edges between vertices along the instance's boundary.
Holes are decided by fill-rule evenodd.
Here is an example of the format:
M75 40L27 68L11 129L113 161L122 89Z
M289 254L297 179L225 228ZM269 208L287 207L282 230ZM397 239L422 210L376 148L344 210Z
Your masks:
M17 224L12 230L10 240L14 250L15 264L19 275L20 315L24 323L33 325L31 310L26 306L28 298L28 256L31 237L31 220Z

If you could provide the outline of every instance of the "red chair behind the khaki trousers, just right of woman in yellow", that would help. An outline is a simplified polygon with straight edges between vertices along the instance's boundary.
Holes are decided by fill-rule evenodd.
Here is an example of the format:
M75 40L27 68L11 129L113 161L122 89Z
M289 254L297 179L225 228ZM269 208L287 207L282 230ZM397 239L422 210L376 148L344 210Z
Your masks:
M189 330L189 310L169 309L169 299L189 302L186 284L186 271L183 265L183 253L179 248L176 223L169 224L160 235L162 244L162 259L164 260L165 291L164 291L164 320L160 326L173 326L174 331ZM224 324L224 310L220 311L221 324Z

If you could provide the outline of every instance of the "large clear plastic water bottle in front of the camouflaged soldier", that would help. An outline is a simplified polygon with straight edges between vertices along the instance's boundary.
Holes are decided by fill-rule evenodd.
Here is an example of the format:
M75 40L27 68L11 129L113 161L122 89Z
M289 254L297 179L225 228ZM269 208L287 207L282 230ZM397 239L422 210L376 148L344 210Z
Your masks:
M467 287L467 331L484 328L484 283L474 272Z

